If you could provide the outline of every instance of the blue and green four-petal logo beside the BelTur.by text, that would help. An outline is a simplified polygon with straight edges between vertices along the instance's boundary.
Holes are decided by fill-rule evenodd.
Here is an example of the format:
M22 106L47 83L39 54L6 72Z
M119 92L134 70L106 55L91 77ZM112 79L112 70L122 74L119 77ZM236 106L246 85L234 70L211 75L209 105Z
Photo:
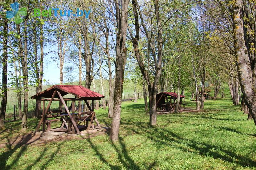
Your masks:
M20 4L18 2L12 3L10 6L12 11L6 11L6 18L11 19L14 17L15 24L20 24L23 21L21 16L27 15L27 8L23 7L19 10Z

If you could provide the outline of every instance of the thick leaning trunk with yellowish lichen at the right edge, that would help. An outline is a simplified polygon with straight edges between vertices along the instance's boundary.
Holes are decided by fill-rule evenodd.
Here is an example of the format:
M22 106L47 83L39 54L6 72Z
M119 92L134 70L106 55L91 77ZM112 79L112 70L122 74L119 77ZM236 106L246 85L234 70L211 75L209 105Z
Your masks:
M241 15L241 4L241 0L235 1L232 16L236 65L244 100L256 125L256 62L254 56L249 56L247 51L245 43L247 34L244 35L245 27ZM248 40L246 39L246 41Z

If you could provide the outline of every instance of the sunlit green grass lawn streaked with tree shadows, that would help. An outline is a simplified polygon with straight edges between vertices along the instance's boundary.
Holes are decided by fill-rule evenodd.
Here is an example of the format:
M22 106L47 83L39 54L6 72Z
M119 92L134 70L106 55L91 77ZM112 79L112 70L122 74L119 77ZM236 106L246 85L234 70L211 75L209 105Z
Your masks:
M0 149L0 169L255 169L256 129L228 98L207 100L204 112L157 116L150 127L143 99L123 102L119 141L108 135ZM188 97L189 98L189 97ZM187 107L195 102L186 99ZM107 110L97 110L111 126ZM38 120L28 119L28 131ZM20 121L6 123L2 141L20 134Z

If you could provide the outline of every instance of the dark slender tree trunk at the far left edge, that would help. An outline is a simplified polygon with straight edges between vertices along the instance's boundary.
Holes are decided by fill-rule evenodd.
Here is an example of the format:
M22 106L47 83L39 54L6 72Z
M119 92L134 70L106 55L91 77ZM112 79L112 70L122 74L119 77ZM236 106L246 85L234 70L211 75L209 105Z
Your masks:
M4 19L3 29L3 53L2 53L2 95L1 95L1 107L0 107L0 129L4 128L4 119L7 105L7 63L8 63L8 23Z

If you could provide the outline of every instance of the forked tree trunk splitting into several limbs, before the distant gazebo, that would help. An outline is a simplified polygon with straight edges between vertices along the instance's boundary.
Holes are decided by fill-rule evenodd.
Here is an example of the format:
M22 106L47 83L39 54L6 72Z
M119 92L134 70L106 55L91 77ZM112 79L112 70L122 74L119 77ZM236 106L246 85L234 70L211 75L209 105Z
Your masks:
M150 109L150 118L149 118L149 123L150 125L156 125L156 117L157 117L157 112L156 112L156 92L158 90L158 80L161 75L161 70L162 70L162 57L163 57L163 29L162 29L162 23L160 19L160 14L159 14L159 2L158 0L154 1L154 9L155 9L155 15L156 15L156 22L157 22L157 55L155 51L155 45L153 42L151 42L151 37L149 35L149 32L144 24L143 17L140 11L140 8L138 7L137 1L132 0L133 4L133 13L134 13L134 20L135 20L135 31L136 35L135 37L132 36L132 33L129 30L129 33L132 37L132 44L133 44L133 49L134 53L136 56L136 60L139 64L140 71L145 78L147 85L148 85L148 93L149 93L149 109ZM140 56L140 51L138 47L138 40L140 37L140 26L139 26L139 19L138 19L138 12L140 14L140 19L142 22L143 29L146 33L146 37L148 39L148 68L145 68L144 61L142 57ZM154 81L151 81L150 76L149 76L149 70L150 70L150 51L151 54L153 55L154 58L154 65L155 65L155 75L154 75Z

